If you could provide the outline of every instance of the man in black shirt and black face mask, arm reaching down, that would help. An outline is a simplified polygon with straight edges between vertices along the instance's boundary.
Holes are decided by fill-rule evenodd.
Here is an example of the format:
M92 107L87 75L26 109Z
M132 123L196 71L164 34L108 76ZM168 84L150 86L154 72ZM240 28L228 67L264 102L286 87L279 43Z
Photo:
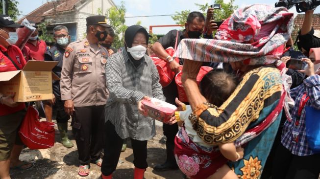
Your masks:
M169 31L165 36L159 39L154 45L152 46L153 52L161 59L167 60L169 63L169 67L175 73L179 72L179 65L183 64L183 61L179 59L179 63L173 60L172 56L170 56L165 49L172 46L174 48L175 41L177 39L177 44L184 38L191 38L191 39L199 39L200 36L203 34L204 38L212 39L212 31L217 29L218 26L216 23L211 21L211 17L213 15L213 8L209 8L207 11L207 19L204 18L203 14L200 12L191 12L188 15L187 22L185 23L185 30L178 31L178 38L177 37L177 30ZM203 64L205 66L212 66L213 64ZM166 97L166 102L175 104L174 99L178 96L177 87L174 81L172 83L163 88L163 94ZM173 149L174 149L174 137L175 134L178 132L178 125L173 124L165 124L163 123L163 134L167 137L166 141L166 152L167 152L167 160L163 164L158 164L154 167L156 171L165 171L165 170L174 170L178 169L176 164Z

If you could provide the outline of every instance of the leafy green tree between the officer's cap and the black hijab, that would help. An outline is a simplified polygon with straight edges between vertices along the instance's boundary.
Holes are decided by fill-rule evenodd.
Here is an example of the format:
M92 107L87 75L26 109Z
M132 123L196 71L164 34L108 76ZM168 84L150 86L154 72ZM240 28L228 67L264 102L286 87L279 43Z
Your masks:
M108 19L108 23L112 26L113 30L115 31L115 39L113 41L112 46L116 49L124 46L124 32L127 28L126 25L124 25L125 19L125 6L124 1L121 1L120 6L118 7L111 7L108 9L106 13L106 17Z

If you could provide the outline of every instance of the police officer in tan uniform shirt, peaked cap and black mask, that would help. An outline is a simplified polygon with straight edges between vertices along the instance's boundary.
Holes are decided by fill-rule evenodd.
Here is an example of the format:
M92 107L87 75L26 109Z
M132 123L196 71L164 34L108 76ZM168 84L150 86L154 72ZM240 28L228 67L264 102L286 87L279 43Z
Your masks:
M108 51L99 43L107 37L105 16L87 18L87 36L66 48L61 71L61 99L72 115L71 125L78 148L78 174L88 176L90 162L101 166L104 106L109 92L105 86Z

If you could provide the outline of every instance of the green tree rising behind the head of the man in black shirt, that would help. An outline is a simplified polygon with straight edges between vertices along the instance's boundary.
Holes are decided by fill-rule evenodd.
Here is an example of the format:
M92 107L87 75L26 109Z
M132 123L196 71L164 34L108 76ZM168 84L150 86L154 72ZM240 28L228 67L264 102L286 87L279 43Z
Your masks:
M227 19L235 9L238 8L237 5L233 5L235 0L230 0L228 3L224 3L223 0L215 0L215 4L221 4L221 9L215 9L213 19L216 21L221 21L222 19ZM209 8L209 4L195 4L199 8L199 12L202 12L204 16L207 15L207 10ZM171 16L173 21L176 24L184 24L187 22L187 17L191 11L190 10L183 10L181 12L175 12L178 15ZM184 28L184 27L183 27Z

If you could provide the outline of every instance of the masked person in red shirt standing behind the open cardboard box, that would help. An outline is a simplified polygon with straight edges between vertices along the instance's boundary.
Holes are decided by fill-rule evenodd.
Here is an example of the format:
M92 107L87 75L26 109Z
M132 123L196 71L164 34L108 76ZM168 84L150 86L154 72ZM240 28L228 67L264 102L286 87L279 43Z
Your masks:
M47 45L46 45L45 41L39 39L38 26L32 21L29 21L29 22L33 27L36 28L36 30L29 37L29 40L25 44L25 46L30 48L30 56L31 56L32 60L44 61L45 60L45 52L47 51Z

